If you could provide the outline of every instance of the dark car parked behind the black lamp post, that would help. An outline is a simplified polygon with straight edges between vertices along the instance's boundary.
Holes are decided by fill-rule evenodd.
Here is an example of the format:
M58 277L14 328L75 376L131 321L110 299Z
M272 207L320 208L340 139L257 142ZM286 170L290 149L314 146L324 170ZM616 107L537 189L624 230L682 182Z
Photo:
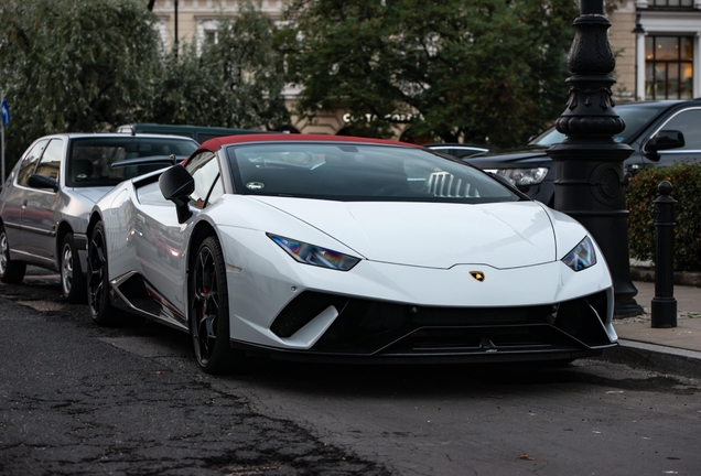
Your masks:
M646 166L701 159L701 100L632 102L615 107L626 128L614 140L633 148L626 174ZM546 153L564 136L551 128L526 147L471 156L470 163L508 178L521 192L554 204L556 162Z

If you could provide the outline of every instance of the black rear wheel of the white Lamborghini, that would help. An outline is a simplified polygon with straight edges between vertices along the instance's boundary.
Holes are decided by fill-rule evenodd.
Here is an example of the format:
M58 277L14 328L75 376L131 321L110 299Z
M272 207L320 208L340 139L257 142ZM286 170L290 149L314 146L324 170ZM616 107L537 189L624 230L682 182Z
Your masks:
M105 226L98 221L90 232L87 259L87 298L93 322L107 326L115 323L115 307L109 298Z

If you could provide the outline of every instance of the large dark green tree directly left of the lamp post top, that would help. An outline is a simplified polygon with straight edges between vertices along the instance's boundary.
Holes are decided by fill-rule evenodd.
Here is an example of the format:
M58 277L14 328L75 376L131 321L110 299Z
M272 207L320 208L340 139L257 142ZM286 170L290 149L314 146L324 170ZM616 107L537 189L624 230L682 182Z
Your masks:
M292 0L285 15L301 115L507 147L564 109L574 0Z

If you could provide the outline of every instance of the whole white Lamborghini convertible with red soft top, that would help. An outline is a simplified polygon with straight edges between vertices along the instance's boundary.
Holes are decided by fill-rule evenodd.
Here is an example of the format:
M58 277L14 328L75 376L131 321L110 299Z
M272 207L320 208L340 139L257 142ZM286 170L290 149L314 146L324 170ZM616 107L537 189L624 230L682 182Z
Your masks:
M94 207L88 302L252 354L356 363L558 360L616 345L578 221L460 159L384 140L212 139Z

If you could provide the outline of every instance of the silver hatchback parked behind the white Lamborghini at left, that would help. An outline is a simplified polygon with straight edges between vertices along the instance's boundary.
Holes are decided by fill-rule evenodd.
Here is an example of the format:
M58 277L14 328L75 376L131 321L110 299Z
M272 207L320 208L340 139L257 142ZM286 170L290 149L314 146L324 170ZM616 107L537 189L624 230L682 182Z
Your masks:
M0 194L0 280L24 279L26 264L61 272L71 302L85 299L87 218L111 187L173 161L197 142L181 137L66 133L36 140Z

